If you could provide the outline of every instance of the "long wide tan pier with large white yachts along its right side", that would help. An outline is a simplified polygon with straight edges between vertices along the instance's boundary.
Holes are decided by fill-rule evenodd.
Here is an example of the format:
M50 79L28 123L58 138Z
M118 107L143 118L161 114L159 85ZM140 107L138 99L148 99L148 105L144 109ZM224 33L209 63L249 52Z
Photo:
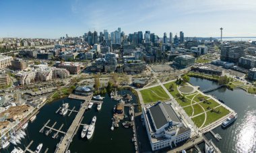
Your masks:
M73 119L73 122L71 123L69 129L67 130L67 133L65 134L63 140L61 140L61 142L59 143L59 145L57 146L57 149L55 152L66 152L67 149L69 148L69 144L71 143L73 136L75 136L75 133L77 132L77 129L81 123L81 119L84 115L84 112L86 111L87 107L88 107L88 103L89 101L92 99L92 95L85 97L85 101L84 103L82 103L82 107L80 107L77 115L75 116L75 119Z

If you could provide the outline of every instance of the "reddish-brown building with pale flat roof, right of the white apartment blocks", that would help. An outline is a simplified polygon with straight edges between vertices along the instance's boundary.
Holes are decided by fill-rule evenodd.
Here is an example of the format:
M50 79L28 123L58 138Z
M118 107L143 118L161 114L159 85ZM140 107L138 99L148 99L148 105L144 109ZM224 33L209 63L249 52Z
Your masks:
M65 68L70 74L79 74L81 71L81 64L78 62L55 62L57 68Z

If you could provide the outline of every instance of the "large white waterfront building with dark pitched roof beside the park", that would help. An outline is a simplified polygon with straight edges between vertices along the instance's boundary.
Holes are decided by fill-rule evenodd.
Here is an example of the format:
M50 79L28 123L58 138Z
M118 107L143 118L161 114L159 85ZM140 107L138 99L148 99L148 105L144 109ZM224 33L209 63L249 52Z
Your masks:
M177 143L190 138L190 128L183 125L170 104L158 102L151 107L143 107L141 117L153 151L172 148Z

